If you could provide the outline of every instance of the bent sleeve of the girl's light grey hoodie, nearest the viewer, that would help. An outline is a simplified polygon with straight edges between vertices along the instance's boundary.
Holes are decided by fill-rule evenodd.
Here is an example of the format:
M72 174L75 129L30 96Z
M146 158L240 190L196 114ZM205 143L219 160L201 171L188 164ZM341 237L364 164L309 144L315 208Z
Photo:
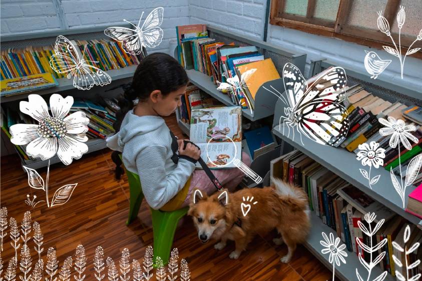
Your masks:
M177 167L166 175L166 147L151 145L136 156L136 167L145 199L153 209L159 209L183 188L195 169L195 164L180 158Z

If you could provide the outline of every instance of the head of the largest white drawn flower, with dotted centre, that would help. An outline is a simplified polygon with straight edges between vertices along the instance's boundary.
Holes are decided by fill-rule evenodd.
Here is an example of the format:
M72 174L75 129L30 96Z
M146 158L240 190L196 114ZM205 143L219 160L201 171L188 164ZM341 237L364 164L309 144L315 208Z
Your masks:
M50 116L47 103L38 94L30 94L29 101L21 101L20 109L36 119L39 124L15 124L10 128L11 141L14 144L27 146L27 153L33 157L49 159L54 155L69 165L72 159L79 159L88 151L86 132L89 119L83 111L77 111L69 116L73 97L63 98L54 93L50 96L50 106L53 116Z

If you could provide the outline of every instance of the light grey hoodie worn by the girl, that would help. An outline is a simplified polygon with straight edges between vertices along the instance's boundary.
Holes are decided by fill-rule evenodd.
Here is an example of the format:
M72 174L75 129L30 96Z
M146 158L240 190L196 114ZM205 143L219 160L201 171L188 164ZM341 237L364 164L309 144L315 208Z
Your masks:
M174 155L170 129L160 116L138 116L130 110L120 131L106 139L107 146L122 152L123 163L139 174L148 204L159 209L183 188L195 164Z

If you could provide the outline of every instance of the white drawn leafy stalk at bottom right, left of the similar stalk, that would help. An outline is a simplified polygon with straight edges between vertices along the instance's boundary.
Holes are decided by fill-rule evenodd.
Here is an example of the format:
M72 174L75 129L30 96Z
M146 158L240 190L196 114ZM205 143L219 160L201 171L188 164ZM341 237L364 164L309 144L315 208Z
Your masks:
M385 243L387 242L387 239L384 238L381 241L379 241L378 243L376 243L375 245L372 244L372 236L375 235L376 231L379 230L379 228L381 228L382 224L384 223L384 219L379 220L375 227L372 229L371 223L374 221L374 219L376 218L375 213L366 213L364 215L364 219L366 220L366 222L368 222L368 227L367 228L361 221L358 221L357 224L360 228L360 230L362 230L363 233L365 233L368 237L369 237L369 245L366 245L365 243L363 243L358 237L356 237L356 243L365 251L369 254L369 263L367 263L361 253L359 252L359 261L360 263L363 265L363 267L366 268L366 270L368 271L368 277L367 277L367 281L370 280L370 275L371 275L371 271L372 268L379 263L379 261L382 260L382 258L384 258L385 256L385 251L381 252L380 254L378 254L375 258L373 258L372 254L374 252L377 252L380 248L382 248ZM387 275L387 271L382 272L381 274L379 274L376 278L372 279L373 281L382 281L385 279L385 276ZM357 268L356 268L356 276L357 279L359 281L363 281L363 278L360 276Z

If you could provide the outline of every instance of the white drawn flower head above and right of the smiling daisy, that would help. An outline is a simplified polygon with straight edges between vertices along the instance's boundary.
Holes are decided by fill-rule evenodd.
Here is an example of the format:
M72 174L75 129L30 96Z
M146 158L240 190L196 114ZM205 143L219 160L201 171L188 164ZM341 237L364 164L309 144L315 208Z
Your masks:
M399 138L401 143L404 145L404 147L406 147L407 150L412 149L410 142L407 140L407 138L409 138L414 143L417 143L417 137L409 133L409 131L416 130L416 127L414 125L406 126L403 120L395 120L395 118L391 116L388 116L388 121L384 118L379 118L378 120L381 124L386 126L384 128L380 128L379 133L381 135L392 134L389 142L389 145L392 148L395 148L397 146Z

